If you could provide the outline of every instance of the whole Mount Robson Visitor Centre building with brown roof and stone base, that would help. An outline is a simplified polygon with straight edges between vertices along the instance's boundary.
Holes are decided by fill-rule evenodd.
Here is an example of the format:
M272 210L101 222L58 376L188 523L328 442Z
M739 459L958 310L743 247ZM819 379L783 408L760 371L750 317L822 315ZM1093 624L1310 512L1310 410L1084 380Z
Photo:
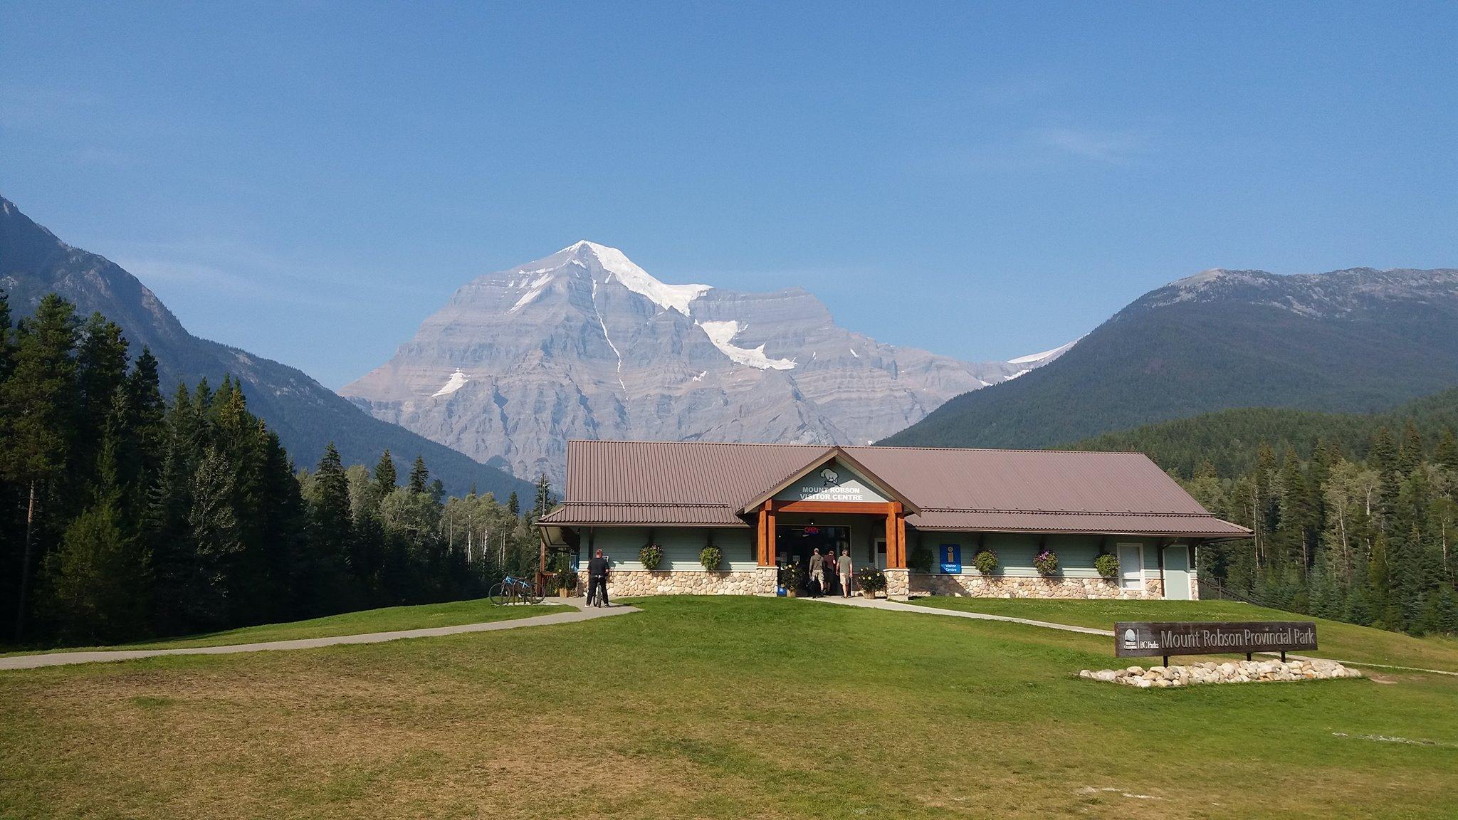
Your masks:
M777 566L849 549L891 597L1185 600L1200 544L1250 534L1134 452L608 441L569 442L566 500L538 525L544 554L602 550L617 595L773 595Z

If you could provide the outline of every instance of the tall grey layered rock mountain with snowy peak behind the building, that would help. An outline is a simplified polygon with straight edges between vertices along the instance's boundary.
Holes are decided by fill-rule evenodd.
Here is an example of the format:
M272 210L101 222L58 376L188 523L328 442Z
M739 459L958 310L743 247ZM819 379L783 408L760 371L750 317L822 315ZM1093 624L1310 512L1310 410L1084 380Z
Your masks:
M799 287L665 285L577 242L461 287L341 394L521 477L570 438L866 444L1066 350L970 363L835 325Z

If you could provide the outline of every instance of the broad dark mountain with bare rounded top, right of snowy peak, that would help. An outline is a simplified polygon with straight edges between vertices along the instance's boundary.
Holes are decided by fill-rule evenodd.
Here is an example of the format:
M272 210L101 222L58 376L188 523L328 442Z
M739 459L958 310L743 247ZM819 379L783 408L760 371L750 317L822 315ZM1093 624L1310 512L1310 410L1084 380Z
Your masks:
M1051 446L1231 407L1376 411L1458 385L1458 270L1207 270L884 444Z

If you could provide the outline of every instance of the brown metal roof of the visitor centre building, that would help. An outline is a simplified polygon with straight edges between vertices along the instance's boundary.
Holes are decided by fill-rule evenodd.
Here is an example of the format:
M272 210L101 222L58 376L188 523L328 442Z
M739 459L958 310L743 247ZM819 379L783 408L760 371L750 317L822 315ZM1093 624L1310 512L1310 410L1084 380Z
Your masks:
M924 530L1239 537L1146 455L847 446ZM735 512L837 448L793 444L567 444L563 509L548 524L742 525Z

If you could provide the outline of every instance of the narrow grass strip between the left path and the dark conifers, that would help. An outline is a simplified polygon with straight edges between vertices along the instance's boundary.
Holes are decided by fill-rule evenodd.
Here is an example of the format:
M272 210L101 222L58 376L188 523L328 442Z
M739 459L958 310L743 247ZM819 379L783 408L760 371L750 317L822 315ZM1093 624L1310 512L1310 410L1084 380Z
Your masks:
M227 643L260 643L264 641L293 641L296 638L332 638L337 635L364 635L366 632L395 632L399 629L429 629L432 626L459 626L462 623L486 623L539 614L573 611L574 607L560 604L497 607L487 598L475 601L449 601L445 604L418 604L413 607L385 607L362 610L337 616L296 620L290 623L264 623L243 626L207 635L188 635L168 641L144 641L117 646L90 646L89 649L181 649L185 646L223 646ZM74 652L79 648L52 649L52 652ZM19 655L26 652L6 652Z

